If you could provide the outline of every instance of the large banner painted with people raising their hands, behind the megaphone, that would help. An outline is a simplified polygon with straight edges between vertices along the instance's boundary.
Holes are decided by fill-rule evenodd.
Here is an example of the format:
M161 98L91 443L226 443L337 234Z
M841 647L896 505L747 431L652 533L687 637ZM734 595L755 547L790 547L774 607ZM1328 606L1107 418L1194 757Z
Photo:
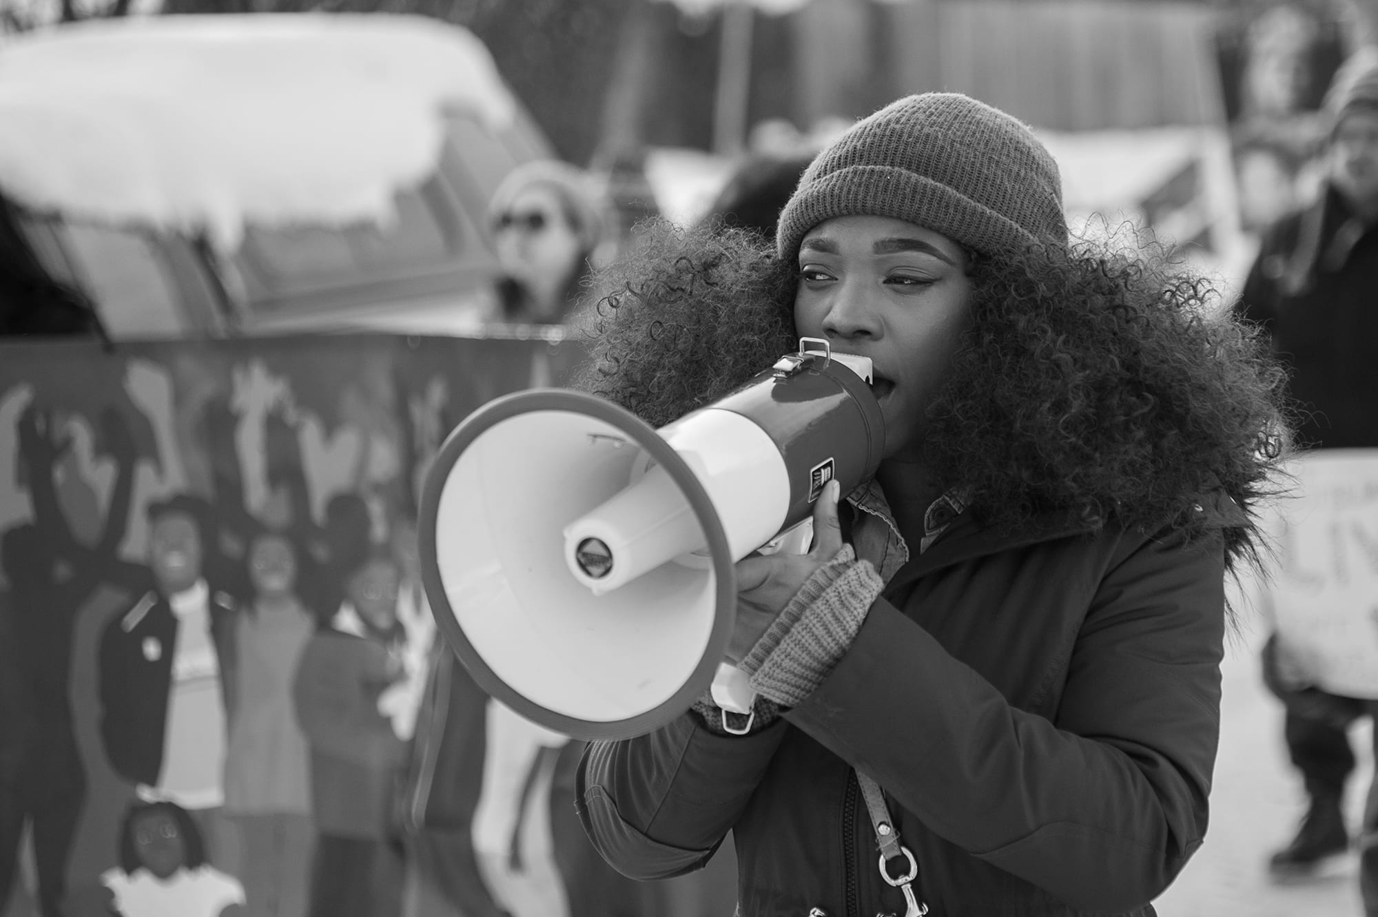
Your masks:
M0 346L0 916L730 909L730 878L723 905L601 861L582 745L486 698L419 585L444 436L576 358Z

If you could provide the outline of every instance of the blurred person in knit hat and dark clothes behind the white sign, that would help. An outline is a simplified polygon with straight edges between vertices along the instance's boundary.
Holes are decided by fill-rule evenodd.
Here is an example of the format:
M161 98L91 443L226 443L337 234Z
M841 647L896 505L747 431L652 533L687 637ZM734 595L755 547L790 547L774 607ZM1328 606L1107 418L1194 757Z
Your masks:
M1378 446L1378 50L1355 52L1326 101L1330 135L1320 197L1262 238L1236 313L1262 324L1291 365L1301 410L1298 445ZM1284 738L1309 807L1269 866L1280 878L1312 876L1349 847L1342 796L1355 768L1348 727L1378 701L1327 694L1273 635L1264 677L1283 701ZM1378 916L1378 785L1363 825L1361 885Z

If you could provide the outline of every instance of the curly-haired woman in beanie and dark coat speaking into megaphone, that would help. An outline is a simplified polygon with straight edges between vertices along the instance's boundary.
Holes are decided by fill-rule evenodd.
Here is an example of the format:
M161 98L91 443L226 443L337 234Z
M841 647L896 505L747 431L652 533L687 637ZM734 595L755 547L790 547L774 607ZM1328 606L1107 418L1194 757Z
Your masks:
M886 438L809 554L739 563L750 732L699 702L586 755L604 855L672 876L730 829L743 917L1152 914L1206 830L1224 577L1280 450L1250 333L1069 244L1047 151L949 94L819 154L774 252L663 231L626 270L591 388L663 424L825 337Z

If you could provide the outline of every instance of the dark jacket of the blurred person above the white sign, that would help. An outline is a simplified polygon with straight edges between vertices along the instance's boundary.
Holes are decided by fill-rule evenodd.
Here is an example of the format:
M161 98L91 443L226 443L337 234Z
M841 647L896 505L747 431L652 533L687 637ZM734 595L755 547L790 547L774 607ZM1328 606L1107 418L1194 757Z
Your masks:
M1378 226L1328 190L1264 234L1235 311L1291 369L1301 445L1378 446Z

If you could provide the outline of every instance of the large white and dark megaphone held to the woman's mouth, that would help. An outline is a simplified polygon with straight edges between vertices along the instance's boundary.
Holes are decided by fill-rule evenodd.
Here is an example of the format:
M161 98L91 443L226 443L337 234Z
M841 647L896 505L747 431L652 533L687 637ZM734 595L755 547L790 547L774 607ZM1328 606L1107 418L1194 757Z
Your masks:
M744 679L723 668L733 565L806 526L834 478L846 493L875 474L870 373L805 337L660 430L570 390L480 408L420 501L440 632L480 687L575 738L648 732L708 690L744 712Z

